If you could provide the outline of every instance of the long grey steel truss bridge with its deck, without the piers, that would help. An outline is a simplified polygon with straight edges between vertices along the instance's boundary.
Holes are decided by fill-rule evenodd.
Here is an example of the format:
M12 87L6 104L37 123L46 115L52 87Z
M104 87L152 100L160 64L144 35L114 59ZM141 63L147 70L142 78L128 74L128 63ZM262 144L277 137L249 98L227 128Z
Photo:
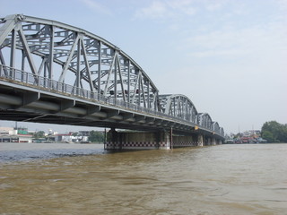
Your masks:
M224 139L211 116L185 95L160 95L141 66L106 39L21 14L0 18L0 119Z

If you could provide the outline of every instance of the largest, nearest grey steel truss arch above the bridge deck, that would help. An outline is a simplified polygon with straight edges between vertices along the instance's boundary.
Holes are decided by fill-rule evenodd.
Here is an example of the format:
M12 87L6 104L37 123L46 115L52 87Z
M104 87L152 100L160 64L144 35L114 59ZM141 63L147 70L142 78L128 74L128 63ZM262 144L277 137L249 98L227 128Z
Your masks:
M61 22L19 14L0 18L0 64L158 110L159 90L130 56Z

